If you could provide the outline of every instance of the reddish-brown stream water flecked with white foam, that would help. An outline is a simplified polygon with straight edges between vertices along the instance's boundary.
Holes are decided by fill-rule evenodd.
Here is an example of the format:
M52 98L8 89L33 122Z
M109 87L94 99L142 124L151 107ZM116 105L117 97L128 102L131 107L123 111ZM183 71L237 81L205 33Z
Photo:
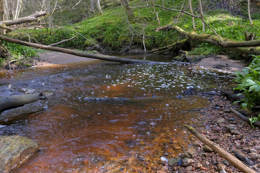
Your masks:
M233 77L182 63L99 60L1 72L1 97L37 92L56 95L17 108L40 106L44 110L11 121L6 116L0 135L18 134L41 146L13 172L155 172L159 156L192 149L183 124L192 121L203 126L206 120L196 109L209 106L207 97L176 96L189 87L219 92L232 86ZM153 94L158 97L152 98ZM84 99L89 96L130 100Z

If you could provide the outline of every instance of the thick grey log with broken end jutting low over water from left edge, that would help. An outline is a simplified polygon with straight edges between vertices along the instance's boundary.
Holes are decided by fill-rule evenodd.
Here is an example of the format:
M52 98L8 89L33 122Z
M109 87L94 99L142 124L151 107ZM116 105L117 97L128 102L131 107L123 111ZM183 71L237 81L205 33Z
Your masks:
M25 95L13 95L0 98L0 114L4 110L17 108L37 100L47 99L48 96L55 95L53 92L35 93Z

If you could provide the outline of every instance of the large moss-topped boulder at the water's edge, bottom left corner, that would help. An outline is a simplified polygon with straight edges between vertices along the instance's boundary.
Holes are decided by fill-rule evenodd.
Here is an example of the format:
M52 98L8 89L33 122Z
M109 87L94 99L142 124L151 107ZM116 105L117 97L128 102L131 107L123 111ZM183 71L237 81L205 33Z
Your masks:
M40 146L33 140L22 136L0 137L0 172L9 172L18 164L23 163Z

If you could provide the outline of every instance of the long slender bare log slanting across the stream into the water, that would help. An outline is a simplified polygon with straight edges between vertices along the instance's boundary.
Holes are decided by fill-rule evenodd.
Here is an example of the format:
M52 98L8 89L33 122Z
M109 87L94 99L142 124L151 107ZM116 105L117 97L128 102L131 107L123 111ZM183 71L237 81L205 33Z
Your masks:
M148 60L136 60L136 59L127 59L127 58L120 58L116 56L108 56L108 55L101 55L101 54L92 54L92 53L85 53L85 52L78 52L70 49L64 49L61 47L51 47L51 46L44 46L36 43L29 43L26 41L20 41L4 36L0 36L1 40L8 41L10 43L16 43L20 44L23 46L28 46L28 47L35 47L37 49L43 49L43 50L49 50L49 51L55 51L55 52L63 52L79 57L86 57L86 58L94 58L94 59L99 59L99 60L105 60L105 61L114 61L114 62L120 62L120 63L159 63L155 61L148 61Z

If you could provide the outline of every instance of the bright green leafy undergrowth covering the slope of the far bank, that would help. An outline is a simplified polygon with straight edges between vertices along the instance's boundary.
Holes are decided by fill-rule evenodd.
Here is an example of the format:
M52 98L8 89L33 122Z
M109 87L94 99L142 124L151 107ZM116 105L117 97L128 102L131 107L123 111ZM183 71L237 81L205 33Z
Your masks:
M205 2L203 6L206 7L208 5L207 3L212 2ZM155 1L155 4L163 5L162 0ZM169 6L168 4L180 7L182 6L183 1L164 0L164 5ZM130 1L130 5L145 6L146 2ZM197 5L197 2L194 2L193 8L196 9ZM73 25L63 26L80 33L85 38L80 36L80 34L76 32L67 29L58 30L57 28L53 29L52 35L49 35L50 31L48 31L48 34L46 34L46 29L20 30L20 32L29 34L39 43L44 45L53 44L64 39L69 39L76 35L78 39L73 39L57 46L80 50L85 50L86 47L88 47L92 43L99 44L104 49L112 51L125 50L126 47L128 47L129 45L132 49L143 49L144 34L144 42L147 50L170 45L175 43L176 41L184 39L184 37L175 30L155 32L155 29L158 27L158 22L156 20L156 14L151 13L153 12L153 7L133 9L134 16L136 17L135 22L127 20L125 10L121 7L121 5L116 6L113 4L103 4L102 11L103 15L97 15L98 13L95 13L92 14L93 17L90 19L75 23ZM158 12L161 26L164 26L171 21L174 21L173 23L176 24L178 19L177 25L179 27L183 28L186 31L193 30L192 18L185 13L164 10L159 7L155 7L155 11ZM198 11L194 10L194 14L198 15ZM245 19L241 16L232 16L228 11L225 10L205 9L204 14L205 21L222 37L230 38L235 41L243 41L245 39L245 31L254 32L255 38L258 38L260 36L259 19L254 19L254 26L250 26L248 19ZM252 15L257 14L254 13ZM195 18L195 24L196 32L203 33L201 20ZM205 27L205 29L206 33L213 34L213 32L209 28ZM57 32L55 33L55 31ZM29 40L28 36L21 33L9 32L8 36L16 39L22 39L24 41ZM86 40L86 38L92 43ZM34 39L30 40L31 42L36 43ZM219 54L226 52L226 50L223 50L222 48L212 44L201 43L194 45L195 46L191 50L190 54Z

